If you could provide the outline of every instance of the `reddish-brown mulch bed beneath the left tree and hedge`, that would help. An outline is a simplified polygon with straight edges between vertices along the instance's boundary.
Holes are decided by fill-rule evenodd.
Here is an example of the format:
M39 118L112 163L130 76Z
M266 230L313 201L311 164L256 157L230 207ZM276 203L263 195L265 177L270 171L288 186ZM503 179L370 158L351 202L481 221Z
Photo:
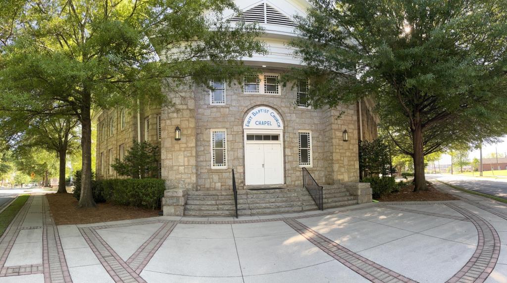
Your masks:
M71 193L46 194L56 225L88 224L158 216L158 210L97 204L96 208L78 208L78 200Z

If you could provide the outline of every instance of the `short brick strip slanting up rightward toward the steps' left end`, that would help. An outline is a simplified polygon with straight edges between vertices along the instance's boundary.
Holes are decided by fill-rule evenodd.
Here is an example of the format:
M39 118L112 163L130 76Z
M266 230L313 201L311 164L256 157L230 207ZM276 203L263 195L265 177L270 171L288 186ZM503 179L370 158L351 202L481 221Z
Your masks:
M141 273L142 269L152 259L162 243L167 239L176 223L165 223L160 227L139 249L127 260L127 264L135 270L135 273Z

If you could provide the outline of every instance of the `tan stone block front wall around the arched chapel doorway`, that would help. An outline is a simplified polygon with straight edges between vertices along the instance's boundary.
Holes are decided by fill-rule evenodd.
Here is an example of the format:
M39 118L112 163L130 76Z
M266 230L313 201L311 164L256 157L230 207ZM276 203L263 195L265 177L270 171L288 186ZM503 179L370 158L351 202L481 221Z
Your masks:
M263 70L264 71L264 70ZM276 70L266 72L279 73ZM227 86L226 105L210 105L209 90L166 91L174 106L162 111L162 178L167 188L231 190L232 169L238 188L244 186L243 120L248 111L263 105L283 119L284 182L302 184L298 131L312 133L312 167L308 171L320 184L358 180L357 117L354 107L313 109L296 106L297 88L280 86L280 95L245 94L242 85ZM341 111L345 114L340 116ZM182 140L174 141L174 128ZM227 169L211 168L211 129L227 129ZM342 141L347 129L349 141ZM333 153L331 153L333 152Z

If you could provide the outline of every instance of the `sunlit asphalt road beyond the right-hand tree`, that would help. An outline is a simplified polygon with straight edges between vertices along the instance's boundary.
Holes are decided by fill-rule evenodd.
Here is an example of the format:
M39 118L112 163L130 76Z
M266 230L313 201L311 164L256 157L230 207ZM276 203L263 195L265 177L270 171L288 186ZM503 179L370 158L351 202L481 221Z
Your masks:
M450 174L429 174L428 180L437 179L467 190L478 191L507 199L507 179L468 177Z

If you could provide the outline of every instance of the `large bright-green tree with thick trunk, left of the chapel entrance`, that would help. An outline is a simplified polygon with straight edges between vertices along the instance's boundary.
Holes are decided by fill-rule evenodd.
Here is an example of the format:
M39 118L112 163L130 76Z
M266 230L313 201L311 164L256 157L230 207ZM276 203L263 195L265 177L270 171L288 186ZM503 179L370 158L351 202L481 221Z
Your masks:
M223 19L236 9L232 0L26 0L8 8L15 13L0 34L0 109L78 118L81 207L94 206L92 110L168 103L162 86L238 78L248 72L239 59L264 52L256 24Z

